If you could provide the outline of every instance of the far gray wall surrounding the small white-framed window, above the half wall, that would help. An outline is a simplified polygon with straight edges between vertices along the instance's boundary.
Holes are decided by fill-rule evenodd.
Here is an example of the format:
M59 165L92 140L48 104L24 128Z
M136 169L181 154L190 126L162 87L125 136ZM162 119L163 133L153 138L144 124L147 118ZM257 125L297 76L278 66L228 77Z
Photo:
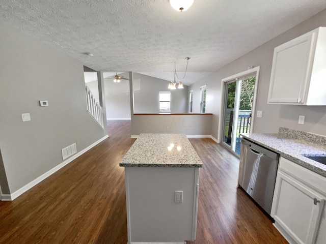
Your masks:
M133 73L134 113L159 113L158 92L171 91L171 113L187 113L188 86L168 89L169 81Z

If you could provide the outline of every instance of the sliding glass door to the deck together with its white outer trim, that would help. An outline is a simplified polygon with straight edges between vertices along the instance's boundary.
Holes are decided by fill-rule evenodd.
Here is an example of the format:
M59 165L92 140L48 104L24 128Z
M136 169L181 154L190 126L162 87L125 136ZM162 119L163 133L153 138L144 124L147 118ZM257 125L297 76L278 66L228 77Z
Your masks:
M220 142L240 155L240 133L253 131L259 67L222 80Z

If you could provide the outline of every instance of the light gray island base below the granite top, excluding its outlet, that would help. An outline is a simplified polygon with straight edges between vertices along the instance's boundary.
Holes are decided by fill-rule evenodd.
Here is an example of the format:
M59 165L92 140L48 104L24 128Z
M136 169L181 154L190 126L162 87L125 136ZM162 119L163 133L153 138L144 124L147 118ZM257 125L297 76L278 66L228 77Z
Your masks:
M198 180L198 167L125 167L128 244L194 240Z

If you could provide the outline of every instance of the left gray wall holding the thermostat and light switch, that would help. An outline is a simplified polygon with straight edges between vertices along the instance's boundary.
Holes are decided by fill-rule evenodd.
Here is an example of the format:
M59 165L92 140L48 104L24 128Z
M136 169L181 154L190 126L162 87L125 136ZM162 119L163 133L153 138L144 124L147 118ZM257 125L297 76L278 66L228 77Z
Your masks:
M14 193L62 163L62 148L78 140L80 151L107 133L86 110L83 64L3 24L0 33L0 148Z

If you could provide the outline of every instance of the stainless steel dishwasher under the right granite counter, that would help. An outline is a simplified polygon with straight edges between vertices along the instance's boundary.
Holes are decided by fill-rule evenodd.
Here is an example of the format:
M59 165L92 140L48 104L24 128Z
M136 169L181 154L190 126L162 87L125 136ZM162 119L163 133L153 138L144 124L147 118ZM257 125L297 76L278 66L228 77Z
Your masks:
M279 154L241 139L239 186L270 215Z

